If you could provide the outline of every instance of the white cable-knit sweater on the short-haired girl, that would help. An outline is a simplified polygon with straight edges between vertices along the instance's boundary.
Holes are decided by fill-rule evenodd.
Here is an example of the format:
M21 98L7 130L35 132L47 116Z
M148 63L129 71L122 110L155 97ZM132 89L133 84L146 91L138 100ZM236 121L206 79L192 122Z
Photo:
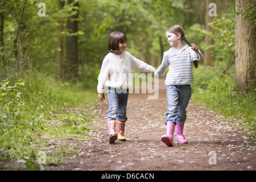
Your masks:
M105 56L98 76L98 93L104 93L104 86L116 89L129 89L133 85L131 70L154 73L155 68L123 51L120 55L108 53Z

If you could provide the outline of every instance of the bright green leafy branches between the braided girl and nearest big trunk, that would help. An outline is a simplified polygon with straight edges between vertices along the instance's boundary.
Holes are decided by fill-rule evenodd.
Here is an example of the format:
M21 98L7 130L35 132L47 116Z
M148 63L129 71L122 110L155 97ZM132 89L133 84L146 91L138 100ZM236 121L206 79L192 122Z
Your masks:
M190 29L197 32L199 37L210 35L210 38L214 40L213 45L206 45L205 42L201 42L199 45L203 50L213 48L214 60L224 62L220 66L223 67L225 72L234 67L235 58L236 16L232 7L214 18L209 26L212 28L211 32L206 31L204 27L199 25L194 25Z

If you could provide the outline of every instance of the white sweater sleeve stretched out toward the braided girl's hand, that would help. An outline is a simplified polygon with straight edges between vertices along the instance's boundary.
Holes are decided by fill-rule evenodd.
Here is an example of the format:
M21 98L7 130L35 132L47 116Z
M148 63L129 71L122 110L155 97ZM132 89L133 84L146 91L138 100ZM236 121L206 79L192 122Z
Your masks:
M133 55L130 55L131 59L131 69L134 69L135 71L139 72L146 72L146 73L154 73L155 68L152 67L151 65L148 65L147 63L144 63L143 61L135 58Z

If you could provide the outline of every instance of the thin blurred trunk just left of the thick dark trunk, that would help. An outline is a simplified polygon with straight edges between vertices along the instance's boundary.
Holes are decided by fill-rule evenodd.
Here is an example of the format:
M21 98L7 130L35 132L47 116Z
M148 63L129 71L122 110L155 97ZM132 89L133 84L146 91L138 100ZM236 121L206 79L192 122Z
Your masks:
M65 2L63 0L59 0L59 11L63 9ZM62 58L63 58L63 36L61 32L64 31L64 20L63 18L59 18L59 35L57 40L57 74L62 74Z

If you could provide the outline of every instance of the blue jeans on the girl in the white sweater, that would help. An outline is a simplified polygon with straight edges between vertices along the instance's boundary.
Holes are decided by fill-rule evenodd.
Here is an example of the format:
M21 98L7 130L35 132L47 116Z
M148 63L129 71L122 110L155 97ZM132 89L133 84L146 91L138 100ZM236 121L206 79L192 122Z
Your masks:
M119 121L126 122L126 106L129 89L108 89L109 111L108 122L117 118Z

